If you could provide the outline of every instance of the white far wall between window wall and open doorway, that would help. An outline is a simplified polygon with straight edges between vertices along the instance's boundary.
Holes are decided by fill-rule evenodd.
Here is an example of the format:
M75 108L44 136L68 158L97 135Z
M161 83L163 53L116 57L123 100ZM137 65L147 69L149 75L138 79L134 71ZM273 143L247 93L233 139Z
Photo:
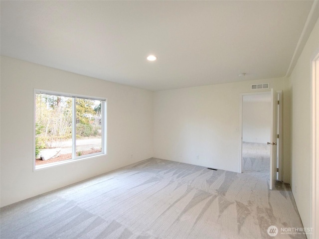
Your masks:
M255 83L283 90L277 78L155 92L154 156L239 172L240 94Z

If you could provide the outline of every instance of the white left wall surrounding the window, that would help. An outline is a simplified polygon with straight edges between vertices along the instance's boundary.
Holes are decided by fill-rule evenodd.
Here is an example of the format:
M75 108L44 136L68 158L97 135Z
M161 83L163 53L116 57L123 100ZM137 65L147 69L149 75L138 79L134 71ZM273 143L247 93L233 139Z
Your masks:
M1 207L153 156L153 92L7 57L0 64ZM107 98L108 155L33 172L34 88Z

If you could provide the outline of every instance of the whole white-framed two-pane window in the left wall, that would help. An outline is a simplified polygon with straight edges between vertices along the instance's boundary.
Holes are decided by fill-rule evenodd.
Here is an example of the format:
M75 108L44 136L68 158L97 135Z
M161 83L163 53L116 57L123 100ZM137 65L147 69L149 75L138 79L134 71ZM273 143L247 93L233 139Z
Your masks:
M105 99L35 91L35 169L105 153Z

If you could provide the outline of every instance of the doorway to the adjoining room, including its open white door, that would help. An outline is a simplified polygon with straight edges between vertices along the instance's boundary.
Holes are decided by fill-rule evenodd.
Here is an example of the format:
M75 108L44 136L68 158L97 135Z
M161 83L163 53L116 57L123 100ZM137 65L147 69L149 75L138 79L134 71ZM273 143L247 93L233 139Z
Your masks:
M256 92L256 93L244 93L241 94L240 101L240 160L239 160L239 171L244 172L249 170L251 164L257 164L252 168L253 171L261 171L264 174L269 172L270 189L275 187L276 181L282 181L282 92L276 92L273 89L269 92ZM248 121L246 121L247 114L245 111L245 102L255 104L251 107L253 110L248 113ZM263 103L263 104L262 104ZM270 105L270 111L269 111ZM255 122L249 122L255 118ZM267 119L267 120L265 120ZM248 124L248 126L247 126ZM250 127L250 129L249 129ZM248 130L248 132L246 132ZM246 146L249 143L259 143L259 151L261 154L264 153L264 158L251 159L249 155L246 155ZM268 147L265 145L267 144ZM249 146L249 145L248 145ZM270 160L268 158L268 152L270 149ZM267 152L267 156L265 156ZM263 157L260 155L259 157ZM261 163L259 163L259 161ZM269 162L269 164L268 164ZM248 163L248 164L247 164ZM258 168L258 163L261 164L262 168ZM269 165L269 167L268 167ZM267 170L269 169L269 170ZM267 172L266 172L267 170ZM251 171L251 170L250 170Z

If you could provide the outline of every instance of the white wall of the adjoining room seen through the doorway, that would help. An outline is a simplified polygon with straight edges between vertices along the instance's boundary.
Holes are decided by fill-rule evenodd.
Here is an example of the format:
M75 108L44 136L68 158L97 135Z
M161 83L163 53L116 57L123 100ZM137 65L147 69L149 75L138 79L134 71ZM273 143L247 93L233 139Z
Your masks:
M243 142L270 142L270 108L270 102L243 102Z

